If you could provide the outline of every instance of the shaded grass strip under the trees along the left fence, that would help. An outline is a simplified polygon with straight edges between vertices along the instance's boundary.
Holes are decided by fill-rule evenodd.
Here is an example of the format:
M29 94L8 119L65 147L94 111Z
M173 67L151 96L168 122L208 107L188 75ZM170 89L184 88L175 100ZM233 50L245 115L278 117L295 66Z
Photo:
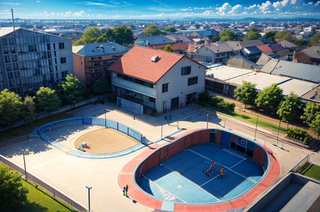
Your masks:
M52 121L55 121L58 119L73 117L73 113L67 114L67 112L68 111L64 111L62 113L56 113L51 116L38 119L36 122L32 123L32 126L37 127L37 126L40 126L45 123L52 122ZM15 127L13 129L13 133L14 133L14 136L17 136L17 135L22 136L22 135L27 135L27 134L31 133L31 123L21 125L19 127ZM3 131L0 133L0 140L7 139L10 137L12 137L12 129L6 130L6 131Z

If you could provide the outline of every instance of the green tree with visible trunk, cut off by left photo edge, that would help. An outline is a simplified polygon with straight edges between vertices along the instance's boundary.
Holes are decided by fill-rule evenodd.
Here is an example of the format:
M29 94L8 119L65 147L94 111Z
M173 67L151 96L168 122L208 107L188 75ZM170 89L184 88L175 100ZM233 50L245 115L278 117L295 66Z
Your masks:
M21 97L14 92L4 89L0 92L0 123L11 126L12 136L13 125L22 119L23 103Z

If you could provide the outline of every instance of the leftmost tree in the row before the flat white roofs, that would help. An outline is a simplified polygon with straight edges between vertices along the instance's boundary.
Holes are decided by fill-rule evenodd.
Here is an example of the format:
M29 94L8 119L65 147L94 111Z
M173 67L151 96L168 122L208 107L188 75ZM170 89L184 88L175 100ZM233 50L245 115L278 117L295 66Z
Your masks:
M244 104L244 108L246 108L247 105L254 105L254 100L258 94L256 85L257 84L242 80L242 86L238 86L234 90L234 97L237 101Z

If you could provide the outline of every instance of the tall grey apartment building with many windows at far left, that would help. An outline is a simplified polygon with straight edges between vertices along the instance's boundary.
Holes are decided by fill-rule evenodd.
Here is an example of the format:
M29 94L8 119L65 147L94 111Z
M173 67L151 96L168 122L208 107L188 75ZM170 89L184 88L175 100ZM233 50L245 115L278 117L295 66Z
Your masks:
M20 27L0 28L0 90L36 95L73 73L71 39Z

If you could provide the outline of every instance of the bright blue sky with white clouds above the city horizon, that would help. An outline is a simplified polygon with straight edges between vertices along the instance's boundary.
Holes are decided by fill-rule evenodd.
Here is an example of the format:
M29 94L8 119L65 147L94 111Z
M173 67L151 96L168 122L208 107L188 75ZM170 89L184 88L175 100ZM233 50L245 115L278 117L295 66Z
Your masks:
M320 0L0 0L0 18L165 19L165 18L320 18Z

